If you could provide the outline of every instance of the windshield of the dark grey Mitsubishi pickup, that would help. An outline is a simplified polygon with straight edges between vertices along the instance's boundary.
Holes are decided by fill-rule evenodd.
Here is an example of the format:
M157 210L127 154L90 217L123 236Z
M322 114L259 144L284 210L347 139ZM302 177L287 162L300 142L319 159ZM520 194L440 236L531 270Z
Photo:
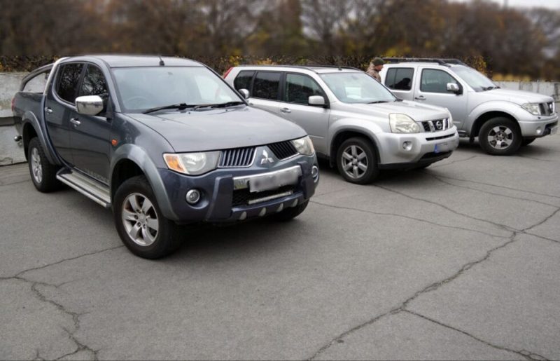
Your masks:
M170 104L223 104L242 99L205 67L114 68L125 111L141 112Z

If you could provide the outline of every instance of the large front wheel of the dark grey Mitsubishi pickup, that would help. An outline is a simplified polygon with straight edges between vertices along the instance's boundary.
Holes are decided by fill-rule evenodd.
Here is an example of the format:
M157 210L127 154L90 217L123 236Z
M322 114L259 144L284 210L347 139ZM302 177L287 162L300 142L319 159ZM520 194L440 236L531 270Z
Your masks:
M179 226L163 217L148 179L127 179L113 198L118 235L130 252L146 259L171 254L181 245Z

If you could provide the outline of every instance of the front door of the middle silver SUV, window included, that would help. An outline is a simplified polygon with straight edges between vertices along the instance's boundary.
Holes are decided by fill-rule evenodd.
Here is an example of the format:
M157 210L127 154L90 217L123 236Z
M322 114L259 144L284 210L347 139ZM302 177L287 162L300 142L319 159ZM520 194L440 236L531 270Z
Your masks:
M309 105L309 97L328 97L318 83L306 74L286 73L282 87L282 103L279 115L304 128L318 153L328 154L326 135L328 133L328 107Z

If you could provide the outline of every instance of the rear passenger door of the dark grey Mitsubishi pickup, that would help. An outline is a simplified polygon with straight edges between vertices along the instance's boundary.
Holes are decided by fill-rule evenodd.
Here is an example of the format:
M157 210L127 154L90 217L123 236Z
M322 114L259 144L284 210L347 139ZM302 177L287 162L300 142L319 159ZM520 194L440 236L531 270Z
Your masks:
M70 119L78 115L74 101L84 68L80 62L61 64L45 100L45 124L50 140L57 154L71 165Z

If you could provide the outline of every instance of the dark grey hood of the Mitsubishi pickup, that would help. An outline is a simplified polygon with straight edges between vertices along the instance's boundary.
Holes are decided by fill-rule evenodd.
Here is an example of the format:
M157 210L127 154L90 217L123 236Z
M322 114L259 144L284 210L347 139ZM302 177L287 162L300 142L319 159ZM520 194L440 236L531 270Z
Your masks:
M127 115L160 133L176 152L259 146L307 135L300 126L251 107Z

